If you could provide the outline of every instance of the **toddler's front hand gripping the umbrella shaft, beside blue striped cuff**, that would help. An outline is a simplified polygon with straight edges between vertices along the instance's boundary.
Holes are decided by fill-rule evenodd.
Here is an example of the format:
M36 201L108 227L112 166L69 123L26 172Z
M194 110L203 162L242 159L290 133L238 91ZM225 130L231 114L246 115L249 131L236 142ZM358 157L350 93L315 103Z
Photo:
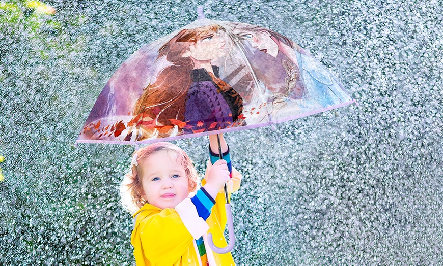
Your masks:
M229 180L229 170L226 161L218 160L212 165L211 169L209 169L208 175L206 176L206 184L203 187L212 198L215 198L218 191L220 191Z

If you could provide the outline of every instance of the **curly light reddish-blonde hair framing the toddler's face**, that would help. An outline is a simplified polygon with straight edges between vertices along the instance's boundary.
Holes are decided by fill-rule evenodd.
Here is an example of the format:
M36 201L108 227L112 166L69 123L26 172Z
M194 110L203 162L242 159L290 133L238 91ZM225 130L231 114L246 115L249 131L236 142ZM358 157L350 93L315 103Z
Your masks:
M189 192L197 190L197 171L191 159L180 147L168 142L158 142L134 151L132 154L131 171L125 175L120 186L122 204L126 210L134 214L147 202L142 198L143 187L140 178L140 163L158 151L172 151L178 155L177 160L183 167L189 182Z

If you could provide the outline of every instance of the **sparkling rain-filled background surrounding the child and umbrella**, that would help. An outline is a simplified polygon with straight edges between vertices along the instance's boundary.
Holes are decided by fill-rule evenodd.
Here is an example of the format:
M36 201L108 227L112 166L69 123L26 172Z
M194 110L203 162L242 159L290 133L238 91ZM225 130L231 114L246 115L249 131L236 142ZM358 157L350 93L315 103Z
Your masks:
M0 264L133 265L132 146L75 139L136 49L197 18L311 52L359 106L226 139L238 265L443 265L441 1L0 2ZM203 173L207 139L177 141Z

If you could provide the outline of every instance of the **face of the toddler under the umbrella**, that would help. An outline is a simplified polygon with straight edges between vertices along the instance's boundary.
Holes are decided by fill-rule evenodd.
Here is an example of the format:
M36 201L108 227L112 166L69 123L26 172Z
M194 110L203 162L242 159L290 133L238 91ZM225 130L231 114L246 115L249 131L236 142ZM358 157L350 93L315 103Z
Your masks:
M173 151L158 151L141 162L143 198L160 209L175 208L189 194L185 170Z

